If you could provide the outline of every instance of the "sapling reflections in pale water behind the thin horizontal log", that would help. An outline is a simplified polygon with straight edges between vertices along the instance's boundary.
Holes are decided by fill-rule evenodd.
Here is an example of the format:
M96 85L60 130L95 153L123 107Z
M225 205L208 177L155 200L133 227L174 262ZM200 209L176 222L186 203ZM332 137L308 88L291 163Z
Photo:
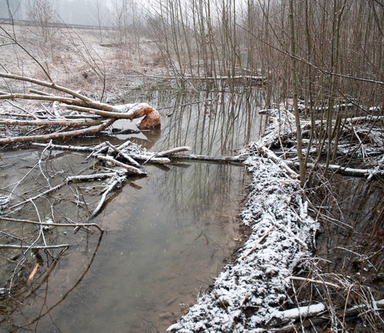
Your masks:
M156 91L149 98L148 103L162 113L161 129L144 131L147 139L111 136L109 141L118 144L130 138L153 151L190 146L194 154L221 155L231 154L262 134L263 117L257 110L264 100L258 89L244 94L175 94L169 89Z

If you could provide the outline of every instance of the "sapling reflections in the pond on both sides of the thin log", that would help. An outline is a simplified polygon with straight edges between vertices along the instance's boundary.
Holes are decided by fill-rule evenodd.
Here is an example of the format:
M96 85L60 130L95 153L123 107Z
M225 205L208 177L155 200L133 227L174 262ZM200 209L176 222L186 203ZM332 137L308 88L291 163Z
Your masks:
M148 102L162 112L161 137L147 131L144 134L148 141L135 141L152 151L187 145L195 154L219 155L256 140L262 133L263 121L257 110L263 105L263 96L257 89L243 95L202 92L192 96L164 90L149 97L152 100ZM188 104L202 100L205 102ZM161 110L161 106L171 105L174 108ZM166 113L172 115L168 118ZM183 166L188 165L188 169L170 166L154 179L156 191L180 218L188 213L198 220L213 207L221 209L231 196L237 196L236 191L243 191L245 175L238 166L195 162ZM236 189L235 179L241 179Z

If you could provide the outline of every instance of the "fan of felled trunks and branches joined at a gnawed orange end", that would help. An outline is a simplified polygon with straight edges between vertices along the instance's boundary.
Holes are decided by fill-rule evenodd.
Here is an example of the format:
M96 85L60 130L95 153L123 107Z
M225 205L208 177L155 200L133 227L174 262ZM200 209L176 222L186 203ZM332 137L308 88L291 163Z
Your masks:
M150 129L160 126L160 115L146 103L109 105L94 101L77 91L66 88L53 81L41 81L22 75L0 73L5 80L8 91L0 91L0 100L5 100L17 108L18 112L4 112L0 109L0 129L3 132L0 146L14 142L38 142L51 139L65 139L103 131L118 119L136 119L144 117L138 124L139 129ZM9 80L30 83L28 93L14 93ZM34 89L33 86L48 91ZM52 94L55 92L56 94ZM18 104L15 99L52 102L53 108L37 112L30 111ZM12 135L11 129L32 127L25 135Z

